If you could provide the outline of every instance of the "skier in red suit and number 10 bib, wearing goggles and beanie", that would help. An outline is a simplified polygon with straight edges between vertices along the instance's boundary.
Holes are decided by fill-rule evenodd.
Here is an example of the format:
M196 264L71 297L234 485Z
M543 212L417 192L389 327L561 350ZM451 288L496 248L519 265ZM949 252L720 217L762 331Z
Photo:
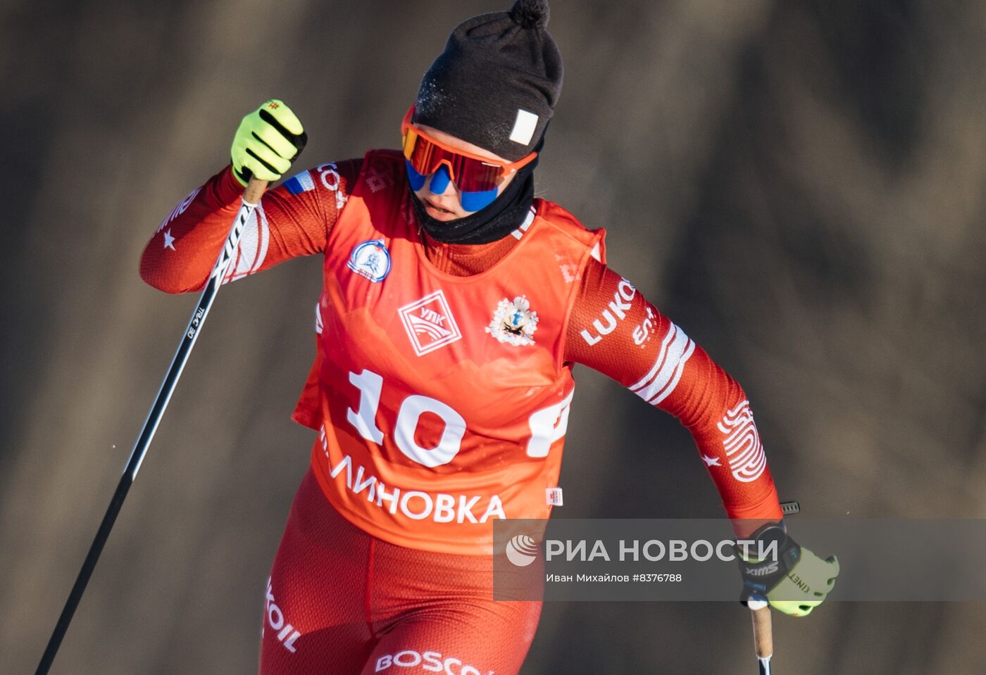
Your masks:
M304 170L246 226L227 280L324 257L293 416L317 439L267 586L263 675L518 672L541 604L492 599L492 525L561 504L573 364L676 416L729 517L781 538L780 572L745 574L777 609L807 614L838 572L783 535L740 385L606 266L603 231L533 197L562 84L547 18L518 0L459 25L399 151ZM282 101L246 115L232 164L151 238L144 280L201 289L249 177L279 179L305 138Z

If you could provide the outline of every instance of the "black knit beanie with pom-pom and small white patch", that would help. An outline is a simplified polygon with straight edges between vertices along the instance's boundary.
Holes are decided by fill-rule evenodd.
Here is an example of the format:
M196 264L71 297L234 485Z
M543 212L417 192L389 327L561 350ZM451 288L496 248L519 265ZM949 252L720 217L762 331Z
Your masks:
M547 0L517 0L459 24L421 80L414 122L511 162L529 155L561 93L547 23Z

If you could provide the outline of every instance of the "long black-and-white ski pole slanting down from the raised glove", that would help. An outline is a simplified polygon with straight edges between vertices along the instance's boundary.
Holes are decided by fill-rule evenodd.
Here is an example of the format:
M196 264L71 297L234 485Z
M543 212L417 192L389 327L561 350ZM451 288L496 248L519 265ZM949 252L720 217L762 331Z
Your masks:
M144 461L144 455L147 454L147 448L151 444L151 439L154 439L154 434L158 431L158 425L161 423L161 418L165 414L165 408L168 407L168 402L172 398L172 392L175 391L178 377L181 376L181 371L184 369L185 362L188 360L191 348L195 345L195 340L198 338L202 324L205 322L205 317L209 313L209 308L212 306L212 302L216 298L216 293L218 293L219 287L223 283L223 277L226 276L227 268L236 254L237 245L240 243L240 236L243 234L246 221L249 219L250 214L253 213L253 209L256 208L266 188L267 182L265 180L257 180L256 178L250 178L249 183L246 185L243 205L240 207L240 211L233 221L230 235L226 237L226 243L219 252L219 258L212 268L212 273L209 275L209 280L206 282L201 297L199 297L198 305L195 307L195 311L192 312L191 319L188 321L188 327L181 337L181 342L178 343L178 349L175 353L175 358L172 360L172 365L165 374L165 379L161 383L161 389L158 390L158 396L154 399L151 412L147 415L147 421L144 422L144 428L141 430L140 436L137 437L137 442L134 443L133 450L130 452L130 458L123 468L123 475L120 477L120 482L116 486L116 492L113 493L113 497L109 501L109 506L106 508L106 515L103 516L103 522L100 524L100 529L96 532L96 538L93 540L92 546L89 547L89 553L86 555L86 560L82 564L82 569L79 571L79 575L72 585L68 600L65 601L65 607L62 609L61 616L58 617L58 623L55 624L55 629L51 634L51 638L48 640L47 647L44 649L40 663L37 664L35 675L45 675L51 668L55 654L58 653L58 647L65 637L69 623L72 621L72 615L75 614L75 610L79 606L79 600L82 599L82 594L86 590L86 584L89 583L89 578L93 575L96 563L100 560L100 554L103 553L103 547L106 544L106 538L109 536L109 530L112 529L113 523L116 521L116 515L120 511L120 506L123 506L123 500L126 499L127 492L133 484L133 479L136 478L137 472L140 471L140 464Z

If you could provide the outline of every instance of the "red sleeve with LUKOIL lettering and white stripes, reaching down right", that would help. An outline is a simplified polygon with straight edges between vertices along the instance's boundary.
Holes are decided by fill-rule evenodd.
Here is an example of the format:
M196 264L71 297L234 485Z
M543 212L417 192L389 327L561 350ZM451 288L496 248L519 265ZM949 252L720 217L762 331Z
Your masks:
M565 360L612 377L684 425L729 517L780 520L777 490L740 384L597 260L590 260L566 337ZM743 523L741 534L752 529Z

